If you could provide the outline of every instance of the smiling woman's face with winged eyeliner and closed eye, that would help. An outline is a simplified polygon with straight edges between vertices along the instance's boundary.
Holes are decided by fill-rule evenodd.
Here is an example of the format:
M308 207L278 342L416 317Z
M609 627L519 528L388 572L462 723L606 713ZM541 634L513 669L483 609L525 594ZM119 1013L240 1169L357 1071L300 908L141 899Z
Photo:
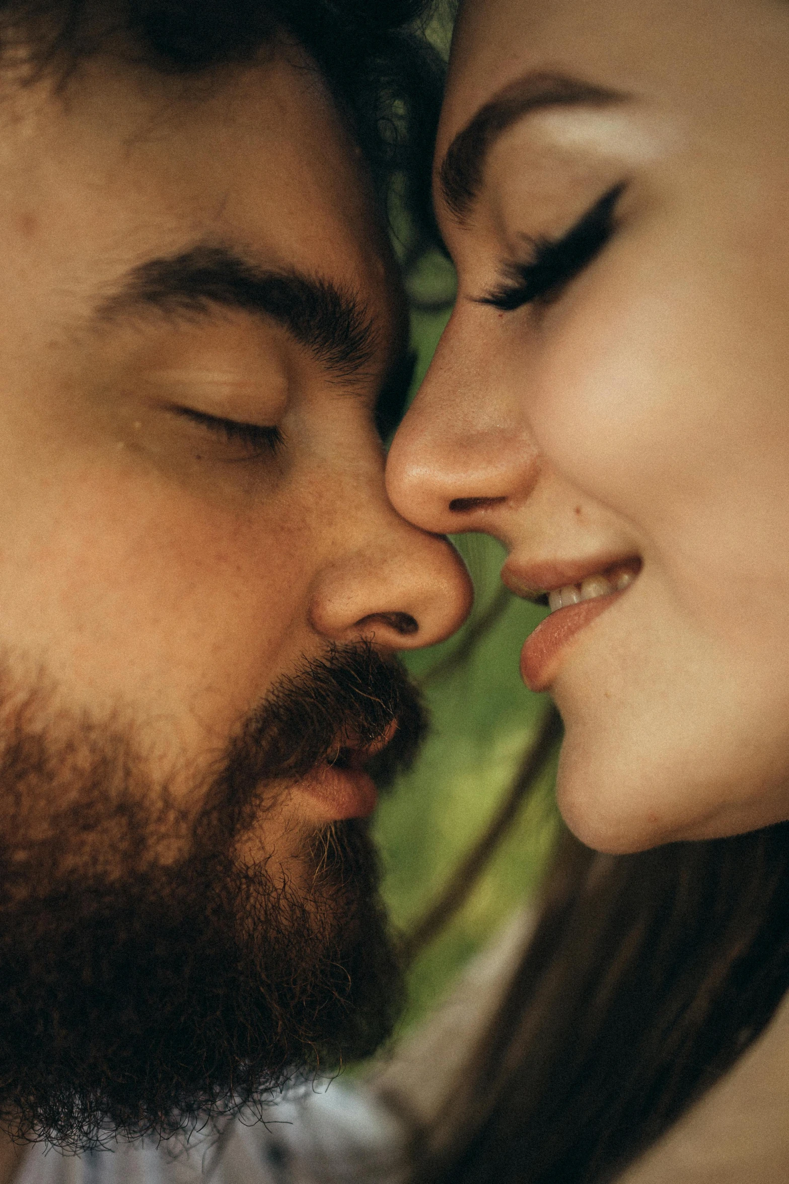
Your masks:
M389 493L554 593L564 817L789 817L789 4L468 0L435 207L459 295Z

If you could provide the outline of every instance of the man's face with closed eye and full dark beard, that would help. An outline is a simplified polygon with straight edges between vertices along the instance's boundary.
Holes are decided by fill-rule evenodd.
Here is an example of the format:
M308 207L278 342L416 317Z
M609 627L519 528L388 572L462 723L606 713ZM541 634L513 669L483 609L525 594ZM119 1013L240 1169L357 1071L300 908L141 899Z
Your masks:
M386 501L405 315L305 65L2 83L0 1102L65 1141L389 1018L357 766L468 586Z

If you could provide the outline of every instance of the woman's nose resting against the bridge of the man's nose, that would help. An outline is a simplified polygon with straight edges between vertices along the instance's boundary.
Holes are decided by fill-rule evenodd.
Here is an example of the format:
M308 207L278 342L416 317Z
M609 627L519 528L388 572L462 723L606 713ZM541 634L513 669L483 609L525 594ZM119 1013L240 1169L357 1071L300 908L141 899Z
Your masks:
M425 530L479 530L509 542L539 456L503 374L474 365L452 321L387 459L392 504Z

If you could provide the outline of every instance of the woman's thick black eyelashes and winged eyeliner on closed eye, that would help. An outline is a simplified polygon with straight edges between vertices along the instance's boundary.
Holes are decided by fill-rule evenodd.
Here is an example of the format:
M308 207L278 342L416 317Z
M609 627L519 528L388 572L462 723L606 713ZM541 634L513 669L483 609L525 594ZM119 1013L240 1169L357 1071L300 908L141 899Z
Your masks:
M557 296L613 234L614 211L623 191L623 184L609 189L562 238L538 239L531 263L513 264L507 281L479 303L511 313L531 301Z

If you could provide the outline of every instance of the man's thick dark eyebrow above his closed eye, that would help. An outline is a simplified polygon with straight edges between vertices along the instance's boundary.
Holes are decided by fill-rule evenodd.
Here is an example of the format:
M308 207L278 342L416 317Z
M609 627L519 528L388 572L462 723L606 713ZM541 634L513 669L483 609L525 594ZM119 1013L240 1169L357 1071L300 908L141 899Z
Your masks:
M375 323L350 288L298 270L265 270L221 245L140 264L102 301L95 320L147 309L200 314L213 305L278 321L338 379L363 373L376 353Z

